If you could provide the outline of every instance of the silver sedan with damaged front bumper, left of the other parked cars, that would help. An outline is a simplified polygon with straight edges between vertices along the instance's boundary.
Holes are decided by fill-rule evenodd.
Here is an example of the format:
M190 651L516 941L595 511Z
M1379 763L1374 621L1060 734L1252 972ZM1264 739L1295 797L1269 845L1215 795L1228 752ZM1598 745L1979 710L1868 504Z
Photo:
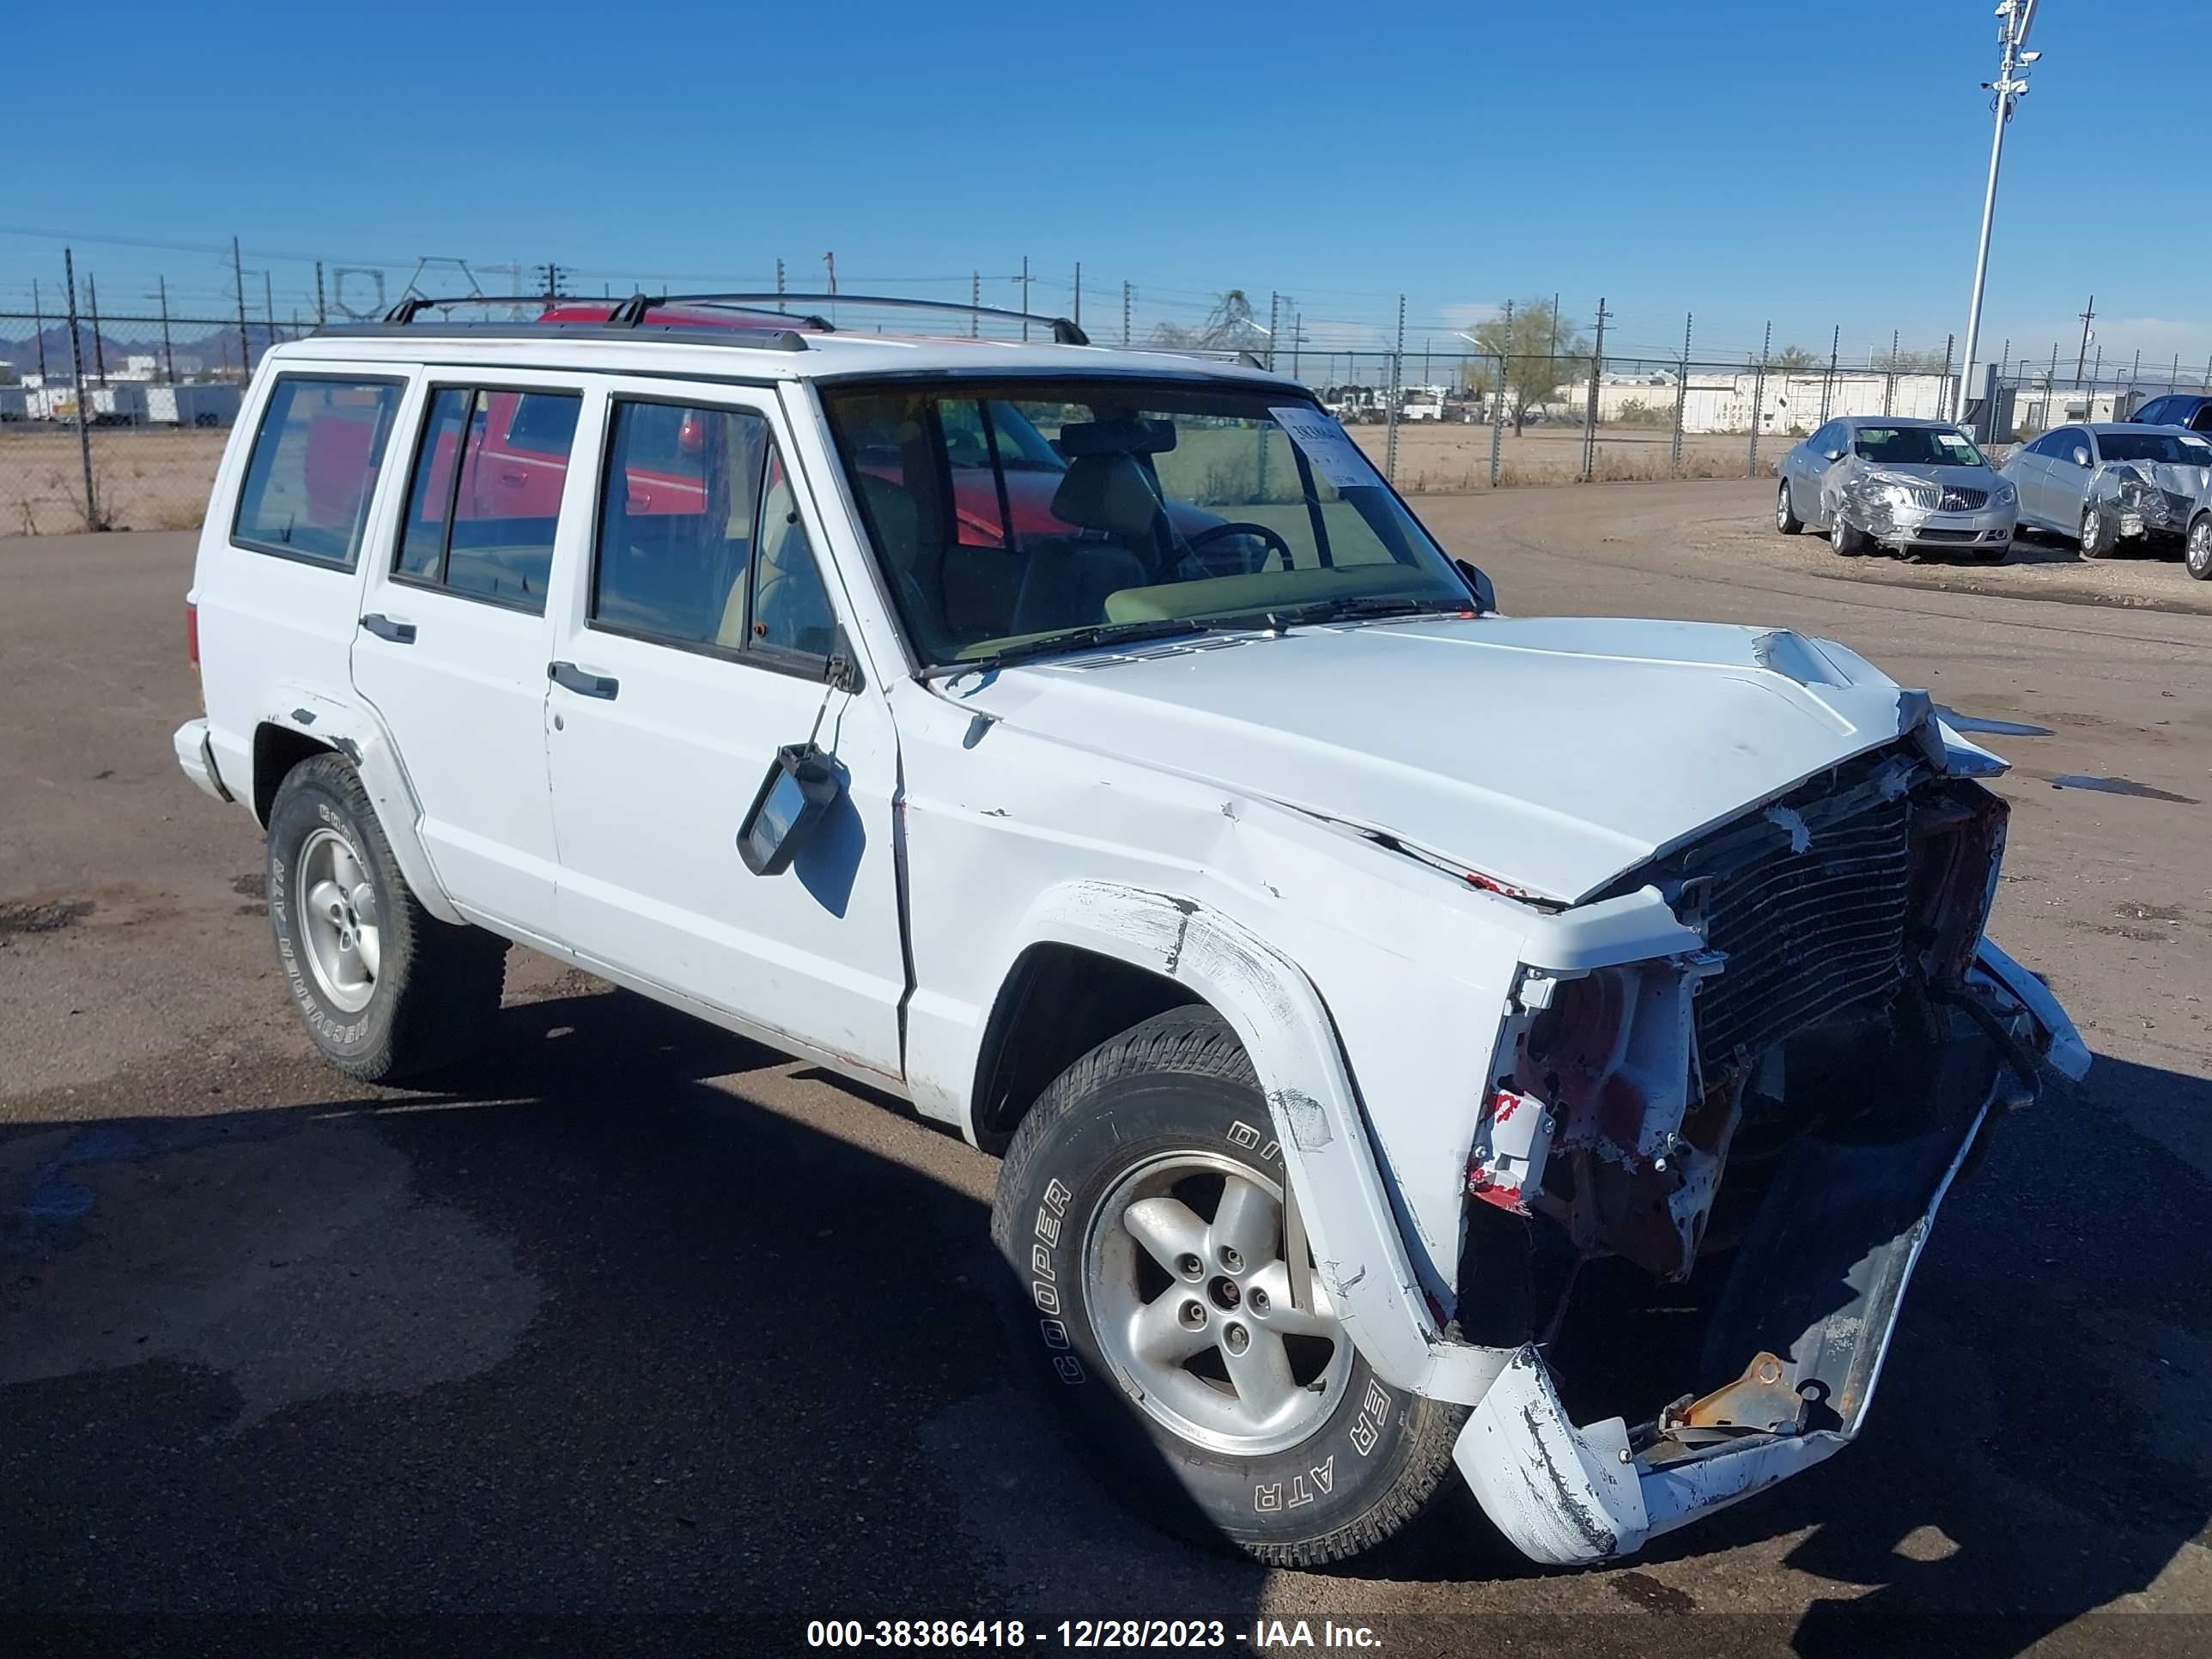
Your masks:
M1949 420L1843 416L1781 462L1774 526L1825 529L1838 553L1896 546L1997 562L2013 549L2017 498Z

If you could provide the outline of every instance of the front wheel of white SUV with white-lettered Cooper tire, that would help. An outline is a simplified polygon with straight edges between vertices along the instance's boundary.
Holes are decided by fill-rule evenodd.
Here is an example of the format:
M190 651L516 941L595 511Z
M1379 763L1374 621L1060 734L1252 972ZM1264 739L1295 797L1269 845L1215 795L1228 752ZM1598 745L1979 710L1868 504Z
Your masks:
M1241 1223L1223 1221L1232 1183ZM1022 1119L991 1239L1011 1270L1015 1360L1108 1489L1181 1537L1321 1566L1431 1511L1467 1407L1385 1385L1325 1310L1285 1307L1281 1190L1243 1046L1210 1009L1172 1009L1077 1060ZM1152 1245L1121 1223L1135 1206L1157 1217ZM1221 1232L1248 1250L1223 1256ZM1318 1272L1312 1296L1327 1296ZM1172 1305L1179 1327L1155 1325L1155 1338L1188 1336L1190 1354L1137 1354L1137 1314L1152 1305ZM1334 1336L1287 1329L1301 1323ZM1239 1334L1252 1400L1230 1380ZM1270 1352L1287 1385L1267 1378ZM1267 1402L1274 1416L1256 1409Z

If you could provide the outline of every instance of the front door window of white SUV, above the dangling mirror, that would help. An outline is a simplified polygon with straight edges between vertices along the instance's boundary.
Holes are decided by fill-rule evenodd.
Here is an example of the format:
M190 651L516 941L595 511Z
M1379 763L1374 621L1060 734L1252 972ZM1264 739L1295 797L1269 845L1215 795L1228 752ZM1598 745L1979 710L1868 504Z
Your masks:
M613 403L591 619L768 664L830 655L836 617L763 416Z

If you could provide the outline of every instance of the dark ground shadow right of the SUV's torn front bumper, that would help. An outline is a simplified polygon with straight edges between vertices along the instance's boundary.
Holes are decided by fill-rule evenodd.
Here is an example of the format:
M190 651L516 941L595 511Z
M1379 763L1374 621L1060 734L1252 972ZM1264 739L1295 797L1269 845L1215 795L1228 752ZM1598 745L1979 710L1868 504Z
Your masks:
M2077 1097L2000 1126L1944 1206L1860 1442L1650 1559L1803 1531L1787 1566L1845 1588L1812 1601L1796 1652L2008 1659L2201 1542L2212 1181L2139 1115L2203 1124L2212 1082L2099 1060ZM2141 1652L2212 1639L2137 1624Z

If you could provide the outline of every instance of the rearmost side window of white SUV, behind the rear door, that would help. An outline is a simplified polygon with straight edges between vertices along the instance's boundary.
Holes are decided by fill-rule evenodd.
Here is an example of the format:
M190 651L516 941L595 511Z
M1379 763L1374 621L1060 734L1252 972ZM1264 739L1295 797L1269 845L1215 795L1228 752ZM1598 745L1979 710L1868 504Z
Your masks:
M230 540L354 568L398 403L394 380L281 378L254 434Z

